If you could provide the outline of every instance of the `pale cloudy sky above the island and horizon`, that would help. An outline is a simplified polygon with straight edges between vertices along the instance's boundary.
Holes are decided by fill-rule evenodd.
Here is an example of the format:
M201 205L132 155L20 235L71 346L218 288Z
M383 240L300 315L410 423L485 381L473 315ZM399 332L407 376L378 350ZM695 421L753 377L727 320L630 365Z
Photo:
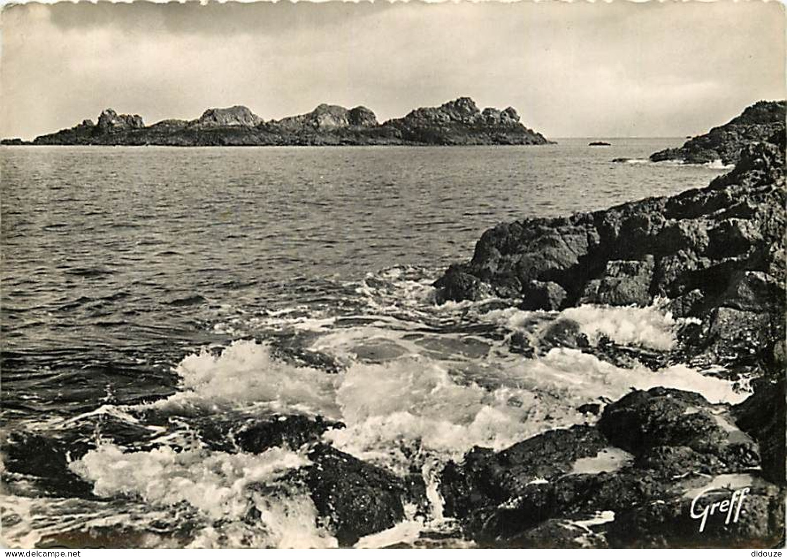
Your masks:
M107 107L146 124L322 102L379 120L469 96L547 137L682 137L785 98L778 2L257 2L6 6L0 136Z

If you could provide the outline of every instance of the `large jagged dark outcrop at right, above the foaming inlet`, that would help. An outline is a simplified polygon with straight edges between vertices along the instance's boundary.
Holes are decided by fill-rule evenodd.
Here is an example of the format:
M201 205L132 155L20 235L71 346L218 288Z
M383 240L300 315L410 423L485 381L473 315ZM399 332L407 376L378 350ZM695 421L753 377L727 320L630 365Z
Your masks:
M438 279L438 296L518 297L525 309L668 297L703 320L686 339L711 360L766 355L784 337L787 224L784 135L767 139L702 189L497 225Z

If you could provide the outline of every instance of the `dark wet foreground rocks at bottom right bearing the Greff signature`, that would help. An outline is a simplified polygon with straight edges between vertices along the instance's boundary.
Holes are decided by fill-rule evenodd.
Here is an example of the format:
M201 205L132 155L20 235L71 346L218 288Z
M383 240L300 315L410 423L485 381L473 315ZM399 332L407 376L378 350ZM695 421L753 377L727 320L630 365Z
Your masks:
M604 459L619 449L630 458ZM549 431L497 453L472 449L445 467L441 490L445 513L481 545L767 548L784 530L784 492L760 478L759 463L726 408L654 388L608 405L598 427ZM706 490L719 475L733 476ZM717 515L700 533L691 506L729 498L730 482L748 486L740 517L730 525Z

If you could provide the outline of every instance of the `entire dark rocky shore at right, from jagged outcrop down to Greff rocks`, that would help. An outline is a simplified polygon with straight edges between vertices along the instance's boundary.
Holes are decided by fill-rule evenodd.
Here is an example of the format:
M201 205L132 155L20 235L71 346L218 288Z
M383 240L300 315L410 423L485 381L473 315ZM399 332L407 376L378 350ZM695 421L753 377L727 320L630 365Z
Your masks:
M787 484L784 150L778 129L743 146L736 167L708 187L498 225L482 235L471 261L438 279L444 299L515 297L523 309L670 297L673 312L699 319L680 332L671 358L760 376L752 397L733 408L681 390L634 390L606 405L595 427L547 432L499 453L472 449L445 467L441 485L446 513L468 537L534 547L779 544ZM541 344L585 350L589 341L578 324L558 320ZM623 353L607 345L600 340L593 354L617 364ZM633 357L648 365L648 355ZM666 365L658 355L652 360ZM579 457L604 445L630 460L615 471L576 470ZM538 455L550 467L533 467ZM704 491L719 475L742 484ZM691 506L718 507L736 487L748 489L745 513L732 522L711 516L700 533ZM598 522L604 514L611 515Z

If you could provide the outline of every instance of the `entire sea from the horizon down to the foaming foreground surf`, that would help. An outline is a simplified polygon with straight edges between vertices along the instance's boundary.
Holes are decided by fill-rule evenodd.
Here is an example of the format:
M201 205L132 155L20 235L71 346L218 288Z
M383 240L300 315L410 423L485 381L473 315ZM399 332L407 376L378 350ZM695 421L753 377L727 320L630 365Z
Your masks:
M591 343L668 350L681 323L664 301L437 304L434 280L501 221L725 172L648 162L678 138L558 141L0 148L3 545L335 547L309 494L283 486L304 452L204 439L301 414L345 423L323 434L334 447L426 482L426 513L357 546L463 547L438 472L473 446L592 422L579 405L634 387L744 399L686 364L618 368L543 342L572 320Z

